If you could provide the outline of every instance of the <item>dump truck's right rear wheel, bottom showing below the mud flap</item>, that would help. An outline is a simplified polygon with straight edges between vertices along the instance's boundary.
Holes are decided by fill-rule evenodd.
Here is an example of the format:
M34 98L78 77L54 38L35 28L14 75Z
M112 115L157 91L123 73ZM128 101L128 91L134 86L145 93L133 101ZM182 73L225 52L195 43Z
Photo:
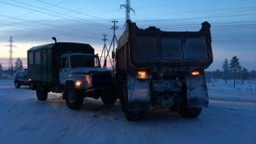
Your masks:
M183 116L185 118L195 118L200 115L202 111L202 108L196 107L196 108L185 108L185 107L178 107L178 112L180 113L180 116Z

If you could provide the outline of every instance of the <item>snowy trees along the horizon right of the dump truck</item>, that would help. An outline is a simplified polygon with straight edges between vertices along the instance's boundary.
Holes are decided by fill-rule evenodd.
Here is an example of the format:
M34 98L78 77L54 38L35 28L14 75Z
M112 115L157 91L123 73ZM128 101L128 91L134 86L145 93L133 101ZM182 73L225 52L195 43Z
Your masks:
M239 63L239 58L234 56L231 61L228 61L227 58L222 64L222 71L217 69L213 72L205 72L206 79L224 79L224 82L227 83L228 79L233 80L233 87L236 87L236 79L242 80L242 83L246 79L256 79L256 71L248 71L247 68L244 68Z

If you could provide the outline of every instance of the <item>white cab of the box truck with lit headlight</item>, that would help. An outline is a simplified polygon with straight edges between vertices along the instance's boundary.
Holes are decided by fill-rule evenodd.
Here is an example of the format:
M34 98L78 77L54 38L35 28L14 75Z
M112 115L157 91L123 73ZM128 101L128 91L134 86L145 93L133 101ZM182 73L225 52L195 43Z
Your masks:
M85 90L91 88L90 72L107 72L101 68L96 54L62 54L59 69L59 83L65 85L67 80L76 83L76 88ZM79 85L79 86L77 86Z

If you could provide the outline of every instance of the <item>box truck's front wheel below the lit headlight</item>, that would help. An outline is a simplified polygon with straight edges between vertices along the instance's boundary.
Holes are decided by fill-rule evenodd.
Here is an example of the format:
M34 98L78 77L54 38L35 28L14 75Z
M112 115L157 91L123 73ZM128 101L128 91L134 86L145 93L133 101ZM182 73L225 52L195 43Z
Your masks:
M66 87L64 96L69 109L80 109L83 105L83 90L76 90L73 84Z

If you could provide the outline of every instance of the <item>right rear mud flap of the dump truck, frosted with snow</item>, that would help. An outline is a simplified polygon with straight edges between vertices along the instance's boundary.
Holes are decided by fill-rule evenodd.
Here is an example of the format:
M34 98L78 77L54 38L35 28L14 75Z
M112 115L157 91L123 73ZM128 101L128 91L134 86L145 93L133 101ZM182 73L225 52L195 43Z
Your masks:
M186 76L186 83L187 107L207 107L209 104L209 96L204 76Z

